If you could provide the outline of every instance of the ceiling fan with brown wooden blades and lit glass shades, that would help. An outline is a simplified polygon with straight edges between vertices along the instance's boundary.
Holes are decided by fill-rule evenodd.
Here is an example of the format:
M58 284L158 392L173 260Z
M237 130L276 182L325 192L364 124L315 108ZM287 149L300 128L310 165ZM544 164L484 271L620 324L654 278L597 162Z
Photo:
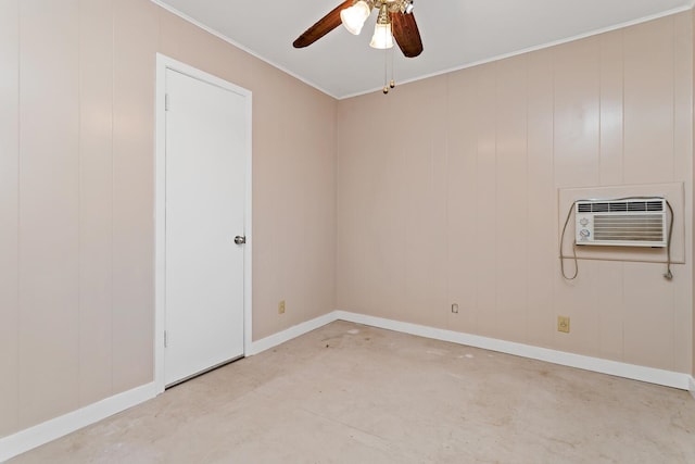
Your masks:
M370 47L388 49L393 47L395 39L407 58L415 58L422 52L420 32L413 15L413 0L345 0L306 29L292 45L294 48L311 46L341 23L351 34L358 35L372 9L379 10L379 16Z

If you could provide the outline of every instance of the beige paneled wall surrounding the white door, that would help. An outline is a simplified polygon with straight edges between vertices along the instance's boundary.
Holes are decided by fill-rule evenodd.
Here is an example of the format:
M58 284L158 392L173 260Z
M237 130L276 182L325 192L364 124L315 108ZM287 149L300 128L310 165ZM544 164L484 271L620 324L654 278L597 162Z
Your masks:
M0 0L0 437L153 379L157 51L253 91L253 338L334 308L332 98L148 0Z

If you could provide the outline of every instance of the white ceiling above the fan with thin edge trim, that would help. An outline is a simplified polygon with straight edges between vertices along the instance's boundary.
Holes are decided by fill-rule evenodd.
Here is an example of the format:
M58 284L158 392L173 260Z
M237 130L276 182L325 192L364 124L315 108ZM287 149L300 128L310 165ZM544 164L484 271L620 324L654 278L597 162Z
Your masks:
M378 90L384 52L342 26L314 45L292 41L341 0L153 0L336 98ZM396 83L470 66L692 8L694 0L415 0L425 51L394 48ZM390 58L389 58L390 60Z

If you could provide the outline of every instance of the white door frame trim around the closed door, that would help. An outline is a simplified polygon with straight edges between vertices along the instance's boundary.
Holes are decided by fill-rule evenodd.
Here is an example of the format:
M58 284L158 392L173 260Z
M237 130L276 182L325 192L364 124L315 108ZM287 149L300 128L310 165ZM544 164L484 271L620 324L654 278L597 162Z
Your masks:
M252 334L252 102L251 91L219 77L207 74L186 63L162 53L156 54L155 83L155 160L154 160L154 385L156 393L164 391L164 328L166 308L166 71L172 70L194 79L232 91L244 98L247 114L245 161L245 200L244 229L247 243L243 247L243 351L251 352ZM233 230L229 231L232 236Z

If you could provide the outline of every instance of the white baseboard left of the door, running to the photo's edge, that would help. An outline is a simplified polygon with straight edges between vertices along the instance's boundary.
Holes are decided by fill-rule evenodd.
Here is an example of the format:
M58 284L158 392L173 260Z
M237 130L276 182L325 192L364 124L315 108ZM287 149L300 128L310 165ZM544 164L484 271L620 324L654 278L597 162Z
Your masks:
M150 383L0 438L0 462L125 411L155 396L154 383Z

